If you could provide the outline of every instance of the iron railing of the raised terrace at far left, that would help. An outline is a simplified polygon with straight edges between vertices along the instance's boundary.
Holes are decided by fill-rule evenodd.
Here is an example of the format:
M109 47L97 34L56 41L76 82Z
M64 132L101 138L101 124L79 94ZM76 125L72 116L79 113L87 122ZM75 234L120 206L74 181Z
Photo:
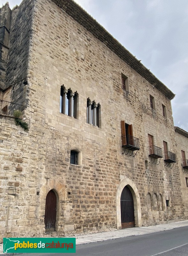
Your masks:
M15 110L19 110L22 112L23 105L9 102L6 100L0 100L0 114L14 116Z

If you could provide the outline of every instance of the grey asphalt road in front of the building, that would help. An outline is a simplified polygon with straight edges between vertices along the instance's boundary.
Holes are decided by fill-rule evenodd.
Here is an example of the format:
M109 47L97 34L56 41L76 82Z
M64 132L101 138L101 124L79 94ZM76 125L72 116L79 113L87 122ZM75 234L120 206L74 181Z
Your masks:
M99 234L100 236L100 234ZM17 254L18 255L18 254ZM27 254L24 254L27 255ZM42 256L34 253L34 256ZM45 256L188 256L188 227L76 246L76 253ZM30 256L30 254L28 254Z

